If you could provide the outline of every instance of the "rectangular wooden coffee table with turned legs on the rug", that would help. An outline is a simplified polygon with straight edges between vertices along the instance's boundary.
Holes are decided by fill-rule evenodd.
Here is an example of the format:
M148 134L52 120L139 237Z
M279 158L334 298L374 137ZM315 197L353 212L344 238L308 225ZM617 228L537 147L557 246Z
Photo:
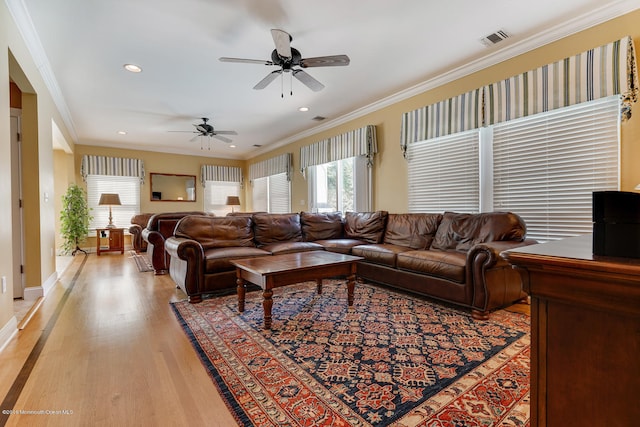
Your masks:
M231 261L236 266L238 311L244 312L247 282L260 286L263 291L264 328L271 329L274 288L314 280L318 294L321 294L322 279L339 276L347 278L347 304L352 306L356 262L361 259L335 252L311 251Z

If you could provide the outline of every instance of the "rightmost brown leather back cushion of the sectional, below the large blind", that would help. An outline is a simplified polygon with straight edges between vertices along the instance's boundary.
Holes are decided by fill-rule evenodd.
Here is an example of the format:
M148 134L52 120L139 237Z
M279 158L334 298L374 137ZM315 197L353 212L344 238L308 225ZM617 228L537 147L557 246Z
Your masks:
M466 252L478 243L509 240L520 242L527 227L511 212L461 214L445 212L431 247Z

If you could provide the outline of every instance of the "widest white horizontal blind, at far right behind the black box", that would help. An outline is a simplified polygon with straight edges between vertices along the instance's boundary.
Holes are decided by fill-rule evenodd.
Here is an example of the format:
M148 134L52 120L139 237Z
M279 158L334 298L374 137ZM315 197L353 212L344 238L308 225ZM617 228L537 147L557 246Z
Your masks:
M619 106L613 96L495 125L494 210L540 241L592 232L592 192L619 187Z

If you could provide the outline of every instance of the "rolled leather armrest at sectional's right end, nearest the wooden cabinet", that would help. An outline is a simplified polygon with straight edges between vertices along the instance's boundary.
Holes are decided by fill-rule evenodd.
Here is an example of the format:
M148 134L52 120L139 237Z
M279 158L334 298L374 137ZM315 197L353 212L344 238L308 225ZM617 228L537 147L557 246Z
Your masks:
M486 318L495 308L525 298L520 274L500 256L508 249L533 245L533 239L524 241L493 241L474 245L467 252L467 283L473 293L474 317Z

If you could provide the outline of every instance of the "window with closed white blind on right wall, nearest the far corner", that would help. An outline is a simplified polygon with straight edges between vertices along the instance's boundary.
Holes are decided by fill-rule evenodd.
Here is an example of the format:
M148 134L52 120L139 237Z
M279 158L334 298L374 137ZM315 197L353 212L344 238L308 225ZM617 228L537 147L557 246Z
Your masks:
M256 178L252 183L254 211L291 212L291 185L286 173Z

